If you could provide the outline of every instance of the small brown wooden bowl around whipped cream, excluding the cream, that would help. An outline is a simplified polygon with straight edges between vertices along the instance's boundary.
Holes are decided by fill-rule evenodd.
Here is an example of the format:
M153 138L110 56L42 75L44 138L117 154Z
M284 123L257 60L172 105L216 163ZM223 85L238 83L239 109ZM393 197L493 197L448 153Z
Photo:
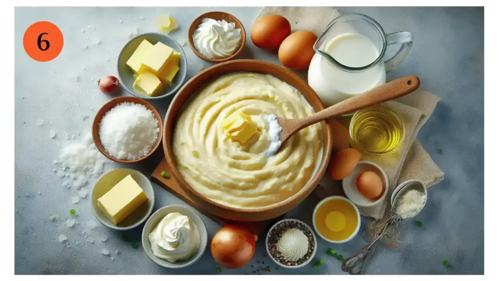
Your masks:
M196 30L198 28L198 26L201 24L201 20L203 18L213 18L216 20L225 19L227 22L236 23L236 28L241 29L241 46L233 55L230 55L230 56L224 57L224 58L209 58L209 57L206 57L203 54L201 54L196 49L196 47L194 46L194 42L192 40L192 35L194 34L194 30ZM243 48L246 45L246 30L245 30L245 27L243 26L243 23L241 23L241 21L239 21L239 19L237 19L234 15L227 13L227 12L223 12L223 11L209 11L209 12L205 12L202 15L198 16L191 23L191 26L189 26L189 31L187 32L187 36L189 37L189 45L191 46L191 49L194 51L194 53L197 56L199 56L201 59L204 59L206 61L210 61L213 63L224 62L224 61L228 61L228 60L235 58L239 53L241 53L241 51L243 50Z

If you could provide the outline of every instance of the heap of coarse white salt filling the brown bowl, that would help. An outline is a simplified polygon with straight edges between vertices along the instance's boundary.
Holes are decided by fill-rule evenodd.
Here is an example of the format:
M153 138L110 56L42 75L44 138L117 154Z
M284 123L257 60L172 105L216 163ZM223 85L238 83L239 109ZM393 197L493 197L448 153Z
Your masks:
M111 108L99 123L102 145L118 159L135 160L147 155L158 133L158 120L153 112L133 102Z

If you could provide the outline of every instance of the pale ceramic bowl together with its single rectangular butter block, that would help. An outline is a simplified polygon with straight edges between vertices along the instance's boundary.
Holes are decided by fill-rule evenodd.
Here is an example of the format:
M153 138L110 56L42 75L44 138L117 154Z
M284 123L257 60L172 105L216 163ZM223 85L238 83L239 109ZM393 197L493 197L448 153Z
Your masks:
M118 168L103 174L92 189L92 212L102 224L128 230L142 224L154 207L149 178L138 170Z

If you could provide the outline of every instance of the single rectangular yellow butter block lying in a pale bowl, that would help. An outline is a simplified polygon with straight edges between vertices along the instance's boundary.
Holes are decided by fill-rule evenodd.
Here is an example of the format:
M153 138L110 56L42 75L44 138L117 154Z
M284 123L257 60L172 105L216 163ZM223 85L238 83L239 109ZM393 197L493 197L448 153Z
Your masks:
M147 201L147 195L129 174L97 199L99 209L116 225Z

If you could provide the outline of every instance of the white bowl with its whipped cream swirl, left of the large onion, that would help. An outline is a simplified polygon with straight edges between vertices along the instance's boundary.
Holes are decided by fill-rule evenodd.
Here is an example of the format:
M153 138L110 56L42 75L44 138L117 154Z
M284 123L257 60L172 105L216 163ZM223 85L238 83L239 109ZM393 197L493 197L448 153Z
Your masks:
M162 207L149 217L142 230L142 246L147 256L166 268L194 264L207 244L205 223L191 207Z

